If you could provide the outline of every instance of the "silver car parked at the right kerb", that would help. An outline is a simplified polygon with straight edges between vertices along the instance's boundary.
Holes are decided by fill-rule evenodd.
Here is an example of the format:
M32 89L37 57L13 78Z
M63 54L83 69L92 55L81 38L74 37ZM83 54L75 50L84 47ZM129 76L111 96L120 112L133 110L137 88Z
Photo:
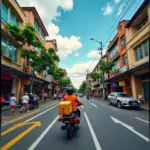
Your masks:
M140 103L136 99L128 96L126 93L123 92L110 93L108 96L108 103L109 105L117 105L119 108L140 108Z

